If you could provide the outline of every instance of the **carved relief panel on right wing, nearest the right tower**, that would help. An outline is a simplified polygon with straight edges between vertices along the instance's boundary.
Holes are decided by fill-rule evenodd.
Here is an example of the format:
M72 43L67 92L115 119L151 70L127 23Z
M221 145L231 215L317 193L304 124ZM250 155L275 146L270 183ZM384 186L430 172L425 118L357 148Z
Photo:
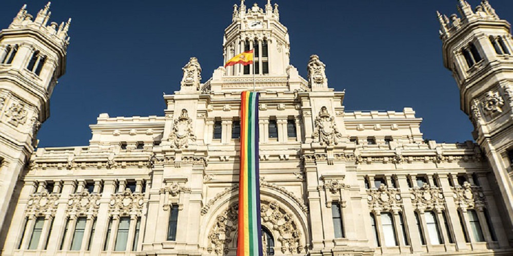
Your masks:
M453 187L454 199L461 209L477 208L485 206L485 198L481 187L472 186L464 182L461 187Z

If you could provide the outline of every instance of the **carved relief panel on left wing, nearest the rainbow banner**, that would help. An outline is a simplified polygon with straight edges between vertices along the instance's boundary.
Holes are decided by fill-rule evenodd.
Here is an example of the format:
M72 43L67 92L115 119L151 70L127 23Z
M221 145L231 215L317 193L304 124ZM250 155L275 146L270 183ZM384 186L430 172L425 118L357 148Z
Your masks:
M132 191L127 188L124 193L112 195L109 210L119 215L140 215L143 209L143 203L143 194L132 193Z

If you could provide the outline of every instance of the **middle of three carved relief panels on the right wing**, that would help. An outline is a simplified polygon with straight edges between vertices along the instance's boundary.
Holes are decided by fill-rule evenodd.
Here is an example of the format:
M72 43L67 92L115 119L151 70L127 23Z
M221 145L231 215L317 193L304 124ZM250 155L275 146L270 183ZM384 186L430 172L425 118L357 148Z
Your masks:
M411 188L411 203L415 209L441 211L445 205L442 189L439 187L431 187L424 183L420 188Z

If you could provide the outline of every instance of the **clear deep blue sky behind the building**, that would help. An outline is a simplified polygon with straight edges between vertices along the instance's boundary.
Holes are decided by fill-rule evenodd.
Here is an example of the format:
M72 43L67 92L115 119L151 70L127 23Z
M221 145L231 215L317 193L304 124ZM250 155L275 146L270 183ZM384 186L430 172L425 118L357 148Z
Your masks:
M46 2L3 0L0 28L8 27L24 3L35 15ZM472 125L443 67L438 36L436 11L457 12L456 0L272 2L280 5L281 22L289 29L292 65L305 77L309 56L318 54L329 87L346 90L348 111L408 106L424 119L425 138L471 139ZM223 31L235 3L240 1L52 1L51 20L73 21L67 73L51 98L40 146L87 145L88 125L100 113L163 115L162 92L179 90L189 57L198 57L203 81L223 65ZM501 18L513 21L513 1L490 3Z

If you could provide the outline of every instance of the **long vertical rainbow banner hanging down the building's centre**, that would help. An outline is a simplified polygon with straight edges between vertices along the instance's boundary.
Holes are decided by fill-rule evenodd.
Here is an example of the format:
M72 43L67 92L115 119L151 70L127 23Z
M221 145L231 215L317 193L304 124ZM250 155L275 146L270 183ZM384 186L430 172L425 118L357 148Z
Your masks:
M241 94L241 166L237 256L262 256L257 92Z

